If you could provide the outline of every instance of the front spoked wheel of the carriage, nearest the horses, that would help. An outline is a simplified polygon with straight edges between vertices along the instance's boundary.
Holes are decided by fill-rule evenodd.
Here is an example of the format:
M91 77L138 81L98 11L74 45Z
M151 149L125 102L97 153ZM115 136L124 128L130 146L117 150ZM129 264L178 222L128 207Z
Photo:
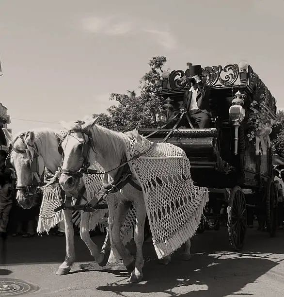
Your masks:
M245 195L239 186L232 189L228 203L228 232L232 247L241 250L247 232L247 206Z

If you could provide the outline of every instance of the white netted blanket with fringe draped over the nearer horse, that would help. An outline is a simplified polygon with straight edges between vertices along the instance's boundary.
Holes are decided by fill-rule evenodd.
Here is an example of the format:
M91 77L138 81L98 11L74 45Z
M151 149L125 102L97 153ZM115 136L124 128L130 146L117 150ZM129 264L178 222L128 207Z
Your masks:
M208 189L193 185L189 159L172 144L154 144L145 137L138 143L128 138L127 159L135 150L143 153L153 145L129 165L141 183L154 247L161 259L195 233L208 201Z

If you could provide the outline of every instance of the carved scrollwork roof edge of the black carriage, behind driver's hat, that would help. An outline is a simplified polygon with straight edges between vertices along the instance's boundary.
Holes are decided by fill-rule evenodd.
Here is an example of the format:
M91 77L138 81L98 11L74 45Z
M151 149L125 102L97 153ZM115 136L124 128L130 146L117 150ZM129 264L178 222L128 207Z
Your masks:
M243 91L250 101L256 100L265 105L268 114L275 118L276 100L271 95L267 86L259 76L252 70L246 62L239 64L228 64L226 66L206 66L202 70L205 76L205 84L213 93L225 94L229 90L230 94L235 94L237 90ZM189 69L164 71L162 73L162 92L163 97L176 96L189 88ZM221 95L224 96L224 95Z

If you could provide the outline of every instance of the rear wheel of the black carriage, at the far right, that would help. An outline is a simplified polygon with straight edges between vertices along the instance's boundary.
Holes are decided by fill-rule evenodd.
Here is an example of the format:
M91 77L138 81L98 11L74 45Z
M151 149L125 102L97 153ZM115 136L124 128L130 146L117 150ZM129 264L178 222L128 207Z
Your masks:
M274 237L277 229L277 206L278 195L275 183L272 179L268 181L266 194L266 226L270 237Z

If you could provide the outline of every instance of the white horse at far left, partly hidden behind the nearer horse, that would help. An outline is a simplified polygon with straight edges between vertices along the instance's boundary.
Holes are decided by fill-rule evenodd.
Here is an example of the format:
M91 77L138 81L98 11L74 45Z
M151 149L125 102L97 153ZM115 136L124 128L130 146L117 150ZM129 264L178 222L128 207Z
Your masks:
M33 181L33 173L31 170L31 162L28 159L27 147L30 151L34 151L44 160L44 165L54 174L61 164L62 156L58 152L58 145L61 141L57 132L49 129L38 129L30 132L19 133L15 138L12 134L3 128L3 132L7 139L13 145L13 150L10 153L10 163L16 170L17 174L17 195L16 199L23 208L31 208L35 204L35 195L26 195L26 189L30 194L35 191L37 184ZM32 149L33 148L33 149ZM32 156L34 158L36 156ZM80 179L79 188L83 185ZM78 190L70 193L74 198L78 198ZM83 199L82 199L83 200ZM81 201L81 203L85 203ZM75 261L74 247L74 230L72 223L72 211L63 210L65 235L66 235L66 257L65 261L59 266L57 275L67 274L71 270L71 266ZM107 233L105 243L100 251L99 248L90 238L89 233L89 218L90 213L81 211L80 222L80 237L89 248L91 255L101 266L107 264L110 254L109 232Z

